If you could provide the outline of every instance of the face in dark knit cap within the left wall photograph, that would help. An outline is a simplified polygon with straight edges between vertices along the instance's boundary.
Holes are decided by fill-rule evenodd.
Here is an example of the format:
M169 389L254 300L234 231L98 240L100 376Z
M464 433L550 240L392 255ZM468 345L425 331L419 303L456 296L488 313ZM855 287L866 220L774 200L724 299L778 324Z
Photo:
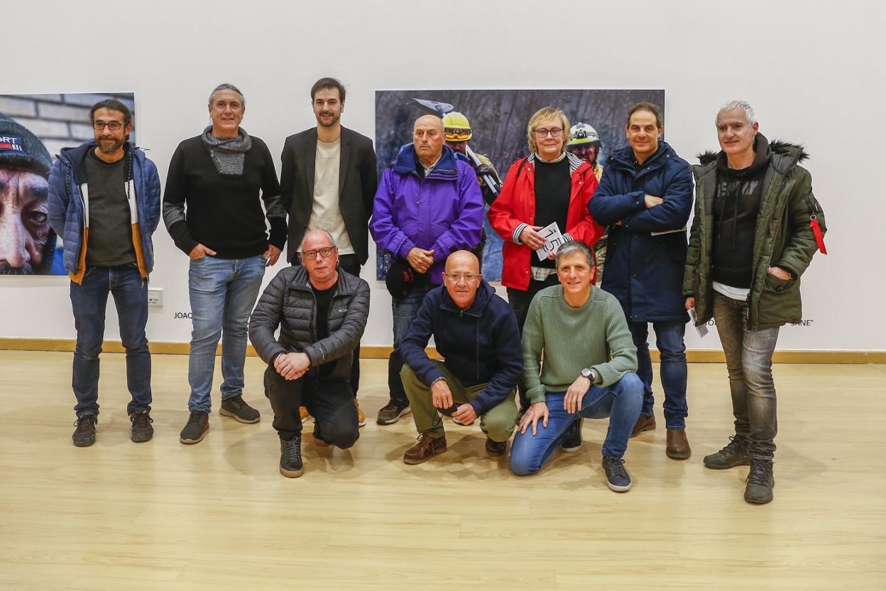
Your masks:
M48 275L56 235L47 219L52 159L37 136L0 113L0 275Z

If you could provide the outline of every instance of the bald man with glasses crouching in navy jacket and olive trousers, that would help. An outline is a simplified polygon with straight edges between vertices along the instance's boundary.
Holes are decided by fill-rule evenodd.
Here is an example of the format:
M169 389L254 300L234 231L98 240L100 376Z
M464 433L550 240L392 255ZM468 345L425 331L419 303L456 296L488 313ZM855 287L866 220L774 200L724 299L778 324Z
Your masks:
M431 335L442 361L424 352ZM468 251L450 254L443 285L424 296L400 344L406 362L400 378L418 432L403 462L423 463L446 451L439 414L461 424L479 418L486 453L504 455L517 422L514 395L523 372L519 342L517 319L480 275L477 257Z

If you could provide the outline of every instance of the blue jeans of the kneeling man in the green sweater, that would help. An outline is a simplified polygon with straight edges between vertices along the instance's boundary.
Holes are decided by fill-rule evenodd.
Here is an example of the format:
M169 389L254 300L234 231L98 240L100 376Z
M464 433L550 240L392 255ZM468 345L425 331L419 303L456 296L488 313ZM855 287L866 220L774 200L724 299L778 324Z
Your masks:
M510 447L510 470L523 476L541 470L554 450L560 445L569 426L579 418L610 417L609 431L603 441L602 455L622 457L631 437L633 424L640 416L643 384L637 374L628 372L618 382L605 388L592 385L581 399L581 410L568 413L563 408L564 392L546 394L548 426L539 421L536 434L532 425L525 433L517 432Z

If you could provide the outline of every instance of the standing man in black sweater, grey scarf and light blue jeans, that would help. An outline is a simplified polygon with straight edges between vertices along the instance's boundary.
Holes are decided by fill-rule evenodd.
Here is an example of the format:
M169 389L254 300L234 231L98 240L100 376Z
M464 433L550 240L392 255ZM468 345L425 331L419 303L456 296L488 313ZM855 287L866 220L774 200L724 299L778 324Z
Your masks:
M260 420L259 411L243 400L246 327L265 268L276 263L286 242L286 212L268 146L240 128L245 107L237 87L217 86L209 96L212 124L179 144L169 163L163 221L190 257L193 321L190 416L182 443L197 443L209 429L220 337L219 413L240 423Z

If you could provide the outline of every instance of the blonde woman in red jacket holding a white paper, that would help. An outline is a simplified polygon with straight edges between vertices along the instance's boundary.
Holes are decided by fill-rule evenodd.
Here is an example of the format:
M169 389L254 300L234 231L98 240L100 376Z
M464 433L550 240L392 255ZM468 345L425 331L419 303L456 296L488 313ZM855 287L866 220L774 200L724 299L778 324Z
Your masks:
M580 240L592 247L602 236L602 226L587 211L597 187L594 169L566 152L569 128L560 109L536 111L526 127L529 156L511 165L501 194L489 208L489 223L504 240L501 284L508 288L521 334L532 297L558 283L553 253L545 260L534 253L545 245L539 230L556 222L566 241ZM527 406L522 387L520 404Z

